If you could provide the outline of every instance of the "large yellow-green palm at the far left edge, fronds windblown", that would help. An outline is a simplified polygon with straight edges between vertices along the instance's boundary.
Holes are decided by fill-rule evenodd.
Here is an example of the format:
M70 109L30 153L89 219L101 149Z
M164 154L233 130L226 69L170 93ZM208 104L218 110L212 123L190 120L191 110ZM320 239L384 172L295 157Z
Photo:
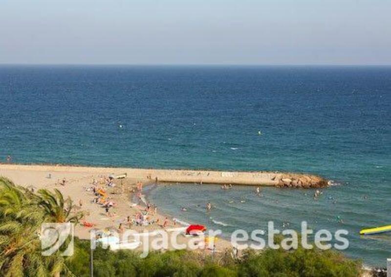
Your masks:
M43 211L24 192L0 178L0 275L17 277L35 272L47 276L38 233Z

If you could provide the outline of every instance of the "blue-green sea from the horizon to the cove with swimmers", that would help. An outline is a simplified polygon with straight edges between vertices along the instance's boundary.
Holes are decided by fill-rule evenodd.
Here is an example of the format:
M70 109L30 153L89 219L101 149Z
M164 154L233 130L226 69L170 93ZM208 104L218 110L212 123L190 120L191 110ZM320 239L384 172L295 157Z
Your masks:
M391 67L0 66L0 111L3 161L322 175L339 185L318 201L194 185L151 199L226 232L268 220L343 228L348 256L391 257L391 234L358 235L391 224Z

